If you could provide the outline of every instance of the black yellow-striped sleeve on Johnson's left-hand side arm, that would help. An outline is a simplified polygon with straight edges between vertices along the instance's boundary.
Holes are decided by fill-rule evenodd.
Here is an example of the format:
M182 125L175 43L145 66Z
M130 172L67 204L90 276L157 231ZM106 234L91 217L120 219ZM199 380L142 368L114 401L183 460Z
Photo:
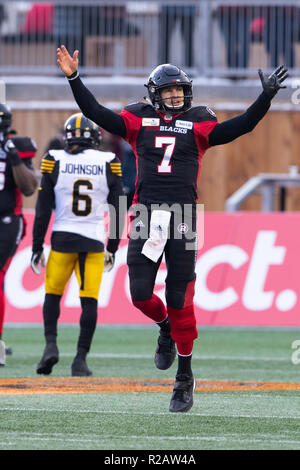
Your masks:
M53 168L51 168L51 165L53 165ZM52 210L55 206L54 181L57 176L57 170L55 168L57 165L58 163L54 162L53 157L46 156L42 160L41 172L43 176L38 191L33 224L32 251L34 252L42 250L43 248Z

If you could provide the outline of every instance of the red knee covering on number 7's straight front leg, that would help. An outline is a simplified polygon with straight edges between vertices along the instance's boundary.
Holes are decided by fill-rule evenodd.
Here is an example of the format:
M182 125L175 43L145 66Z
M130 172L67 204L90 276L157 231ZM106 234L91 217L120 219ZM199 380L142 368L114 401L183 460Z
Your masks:
M193 305L184 308L172 308L168 305L171 322L171 336L175 343L189 343L198 337L196 317Z

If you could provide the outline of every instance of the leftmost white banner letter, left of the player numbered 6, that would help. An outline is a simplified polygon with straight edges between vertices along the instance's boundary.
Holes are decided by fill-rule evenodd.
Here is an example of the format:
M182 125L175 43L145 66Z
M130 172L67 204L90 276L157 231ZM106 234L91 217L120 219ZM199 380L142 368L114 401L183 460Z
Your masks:
M49 255L50 247L44 246L45 257ZM20 309L33 308L43 305L45 297L44 284L35 290L26 290L23 286L23 276L30 266L31 247L24 248L13 257L5 276L5 295L7 300ZM31 268L30 268L31 269Z

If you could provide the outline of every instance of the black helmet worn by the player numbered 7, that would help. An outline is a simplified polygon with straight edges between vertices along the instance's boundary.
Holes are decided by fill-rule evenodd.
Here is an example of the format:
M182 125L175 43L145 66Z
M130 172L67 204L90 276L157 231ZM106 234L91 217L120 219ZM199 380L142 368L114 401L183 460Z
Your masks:
M160 90L174 85L181 85L183 87L184 104L180 108L166 105L160 95ZM192 80L176 65L162 64L156 67L151 72L145 87L148 89L150 101L156 111L178 114L179 112L187 111L192 106Z

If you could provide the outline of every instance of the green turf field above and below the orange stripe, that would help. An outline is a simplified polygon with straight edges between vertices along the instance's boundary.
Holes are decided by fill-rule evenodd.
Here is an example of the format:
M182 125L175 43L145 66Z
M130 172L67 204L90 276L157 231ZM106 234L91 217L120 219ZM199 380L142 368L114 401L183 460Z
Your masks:
M77 327L60 327L60 362L69 377ZM170 379L154 366L154 327L99 327L88 359L94 377ZM1 382L37 377L41 327L5 328L13 348ZM292 343L299 329L199 328L193 354L197 380L300 383ZM300 355L298 356L300 357ZM39 376L38 376L39 377ZM255 388L255 387L254 387ZM0 450L300 449L300 390L196 391L186 414L169 413L170 393L0 395Z

